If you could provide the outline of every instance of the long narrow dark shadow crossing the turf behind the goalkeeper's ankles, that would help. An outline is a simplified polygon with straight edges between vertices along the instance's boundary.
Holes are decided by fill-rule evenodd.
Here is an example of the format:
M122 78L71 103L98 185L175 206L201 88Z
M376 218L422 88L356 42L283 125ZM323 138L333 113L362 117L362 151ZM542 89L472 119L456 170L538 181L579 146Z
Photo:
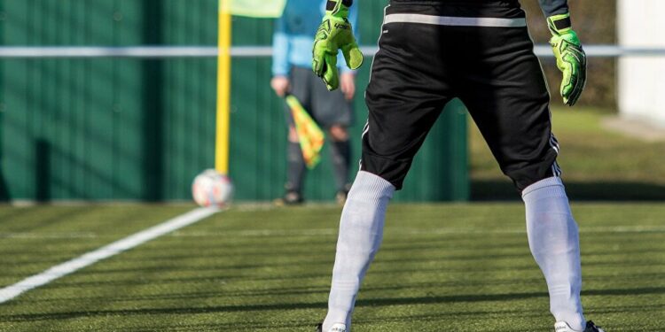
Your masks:
M596 296L636 296L643 294L665 294L665 287L614 289L614 290L587 290L583 295ZM387 297L360 299L356 306L391 306L391 305L429 305L460 302L486 302L510 301L534 297L546 298L547 292L522 292L505 294L459 294L434 297ZM283 303L266 305L211 305L203 307L170 307L170 308L140 308L118 310L86 310L65 311L59 313L21 313L0 315L0 320L9 321L35 321L35 320L66 320L93 316L120 316L120 315L155 315L155 314L205 314L205 313L236 313L236 312L262 312L278 310L325 309L326 302L314 303Z

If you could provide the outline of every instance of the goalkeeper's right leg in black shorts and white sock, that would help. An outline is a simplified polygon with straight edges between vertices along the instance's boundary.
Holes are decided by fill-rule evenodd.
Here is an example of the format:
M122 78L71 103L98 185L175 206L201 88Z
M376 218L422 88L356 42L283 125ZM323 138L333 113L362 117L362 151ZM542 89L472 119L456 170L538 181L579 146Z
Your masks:
M462 99L502 171L522 192L528 243L547 282L552 314L583 331L577 225L559 178L549 93L527 29L477 29L458 42L466 60L458 73Z

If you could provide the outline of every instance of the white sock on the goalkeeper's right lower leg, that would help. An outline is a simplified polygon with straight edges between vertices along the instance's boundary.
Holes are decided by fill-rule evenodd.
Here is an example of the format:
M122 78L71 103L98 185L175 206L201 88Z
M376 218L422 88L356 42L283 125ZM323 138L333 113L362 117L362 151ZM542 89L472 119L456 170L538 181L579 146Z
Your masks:
M527 210L528 246L550 291L550 311L582 331L582 268L577 224L559 177L538 181L522 191Z

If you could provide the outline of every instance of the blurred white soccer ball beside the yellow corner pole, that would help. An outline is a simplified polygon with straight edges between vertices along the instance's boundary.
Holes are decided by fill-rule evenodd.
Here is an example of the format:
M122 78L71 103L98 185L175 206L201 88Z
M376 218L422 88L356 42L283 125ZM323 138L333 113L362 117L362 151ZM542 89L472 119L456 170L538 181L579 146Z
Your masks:
M231 179L214 169L207 169L192 182L192 197L196 204L208 207L223 207L231 203L233 183Z

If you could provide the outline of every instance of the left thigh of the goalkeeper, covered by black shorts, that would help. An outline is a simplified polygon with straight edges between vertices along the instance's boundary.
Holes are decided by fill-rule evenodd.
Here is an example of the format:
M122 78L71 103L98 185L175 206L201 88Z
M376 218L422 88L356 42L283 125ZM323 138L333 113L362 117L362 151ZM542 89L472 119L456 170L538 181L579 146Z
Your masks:
M391 5L387 15L419 11ZM388 16L387 16L388 17ZM384 24L365 93L369 110L361 169L401 189L412 160L451 99L442 27Z

